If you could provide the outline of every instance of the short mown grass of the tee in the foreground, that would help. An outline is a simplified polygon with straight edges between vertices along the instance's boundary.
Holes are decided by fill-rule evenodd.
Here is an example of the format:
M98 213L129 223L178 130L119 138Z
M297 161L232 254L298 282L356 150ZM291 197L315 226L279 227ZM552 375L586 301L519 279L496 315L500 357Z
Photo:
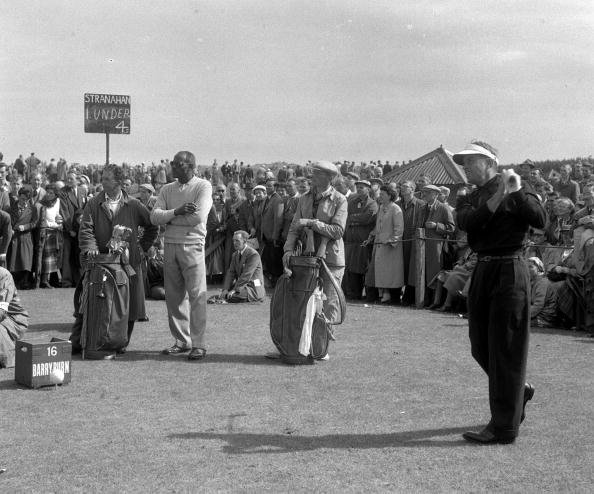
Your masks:
M23 292L31 333L67 337L72 290ZM461 439L489 418L465 321L349 305L329 362L288 367L268 304L209 305L208 357L166 357L163 302L129 353L73 362L69 385L0 371L0 492L590 492L594 339L533 333L536 395L510 446Z

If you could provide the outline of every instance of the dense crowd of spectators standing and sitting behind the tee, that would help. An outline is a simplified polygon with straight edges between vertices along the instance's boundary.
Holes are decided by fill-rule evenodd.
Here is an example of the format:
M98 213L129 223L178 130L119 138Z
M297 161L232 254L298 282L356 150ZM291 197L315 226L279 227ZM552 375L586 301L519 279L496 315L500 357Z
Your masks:
M455 196L469 193L469 186L457 187L450 197L450 188L433 184L427 175L415 182L399 183L397 176L384 182L398 162L335 164L339 174L332 185L348 201L343 235L347 298L411 305L421 282L428 309L463 314L476 256L456 226L454 206ZM205 246L210 283L224 279L233 235L244 231L261 255L266 286L275 285L283 272L283 246L298 198L310 188L310 165L252 166L238 160L219 165L215 160L197 168L213 186ZM173 181L168 160L122 167L127 176L123 190L149 210L161 187ZM594 313L594 297L586 295L594 284L592 164L563 164L545 174L526 160L515 169L549 213L547 226L533 230L526 243L533 324L573 327L580 310ZM0 260L18 288L77 284L80 218L89 197L101 190L101 170L100 165L69 165L64 159L42 162L34 153L7 165L0 154ZM419 228L425 238L422 280L422 260L416 259L414 247ZM158 242L151 254L156 258L162 248Z

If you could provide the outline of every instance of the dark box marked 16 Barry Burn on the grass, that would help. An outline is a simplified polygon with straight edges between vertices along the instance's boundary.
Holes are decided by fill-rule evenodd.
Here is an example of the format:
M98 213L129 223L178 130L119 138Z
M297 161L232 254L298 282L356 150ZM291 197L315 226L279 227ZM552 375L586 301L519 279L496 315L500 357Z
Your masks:
M54 370L64 375L56 382ZM15 343L14 380L29 388L68 384L72 370L72 343L60 338L50 341L42 337L18 340ZM59 373L58 373L59 375Z

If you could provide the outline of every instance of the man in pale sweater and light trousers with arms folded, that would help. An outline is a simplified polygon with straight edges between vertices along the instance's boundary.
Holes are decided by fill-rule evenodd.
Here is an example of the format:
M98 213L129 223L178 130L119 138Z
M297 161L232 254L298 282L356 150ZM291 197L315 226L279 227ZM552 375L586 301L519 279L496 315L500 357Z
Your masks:
M212 207L212 186L195 176L196 158L180 151L171 162L177 181L161 189L151 212L154 225L165 228L165 302L169 329L175 338L166 355L190 352L206 357L206 219ZM188 297L186 298L186 294Z

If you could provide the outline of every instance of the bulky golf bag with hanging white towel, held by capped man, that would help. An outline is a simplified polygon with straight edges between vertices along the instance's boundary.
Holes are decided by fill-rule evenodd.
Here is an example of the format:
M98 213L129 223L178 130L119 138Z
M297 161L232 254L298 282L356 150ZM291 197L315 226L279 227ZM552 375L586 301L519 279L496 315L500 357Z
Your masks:
M322 244L318 253L325 253L326 242ZM309 352L304 352L303 348L300 352L308 303L312 295L315 297L321 293L322 272L332 281L333 289L338 294L340 320L328 321L323 312L316 312L311 324ZM331 325L341 324L345 311L346 302L342 289L328 270L322 256L292 256L288 269L278 279L270 301L270 336L280 352L281 360L286 364L302 365L313 364L314 359L324 357L328 352L329 340L334 339ZM307 341L309 342L309 339Z

